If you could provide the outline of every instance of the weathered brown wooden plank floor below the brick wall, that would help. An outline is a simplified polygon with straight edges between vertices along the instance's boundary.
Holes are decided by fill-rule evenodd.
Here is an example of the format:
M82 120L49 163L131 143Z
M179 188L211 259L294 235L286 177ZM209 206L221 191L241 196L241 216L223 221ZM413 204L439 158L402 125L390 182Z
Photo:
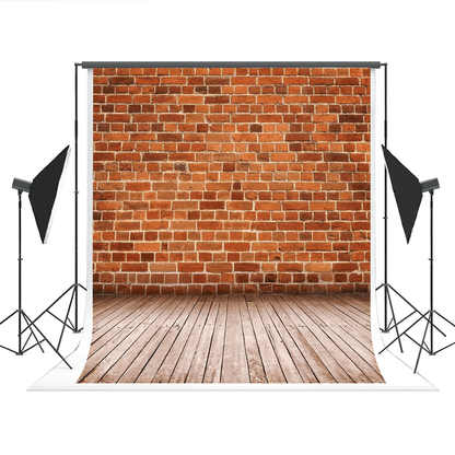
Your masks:
M370 296L94 295L80 383L384 383Z

